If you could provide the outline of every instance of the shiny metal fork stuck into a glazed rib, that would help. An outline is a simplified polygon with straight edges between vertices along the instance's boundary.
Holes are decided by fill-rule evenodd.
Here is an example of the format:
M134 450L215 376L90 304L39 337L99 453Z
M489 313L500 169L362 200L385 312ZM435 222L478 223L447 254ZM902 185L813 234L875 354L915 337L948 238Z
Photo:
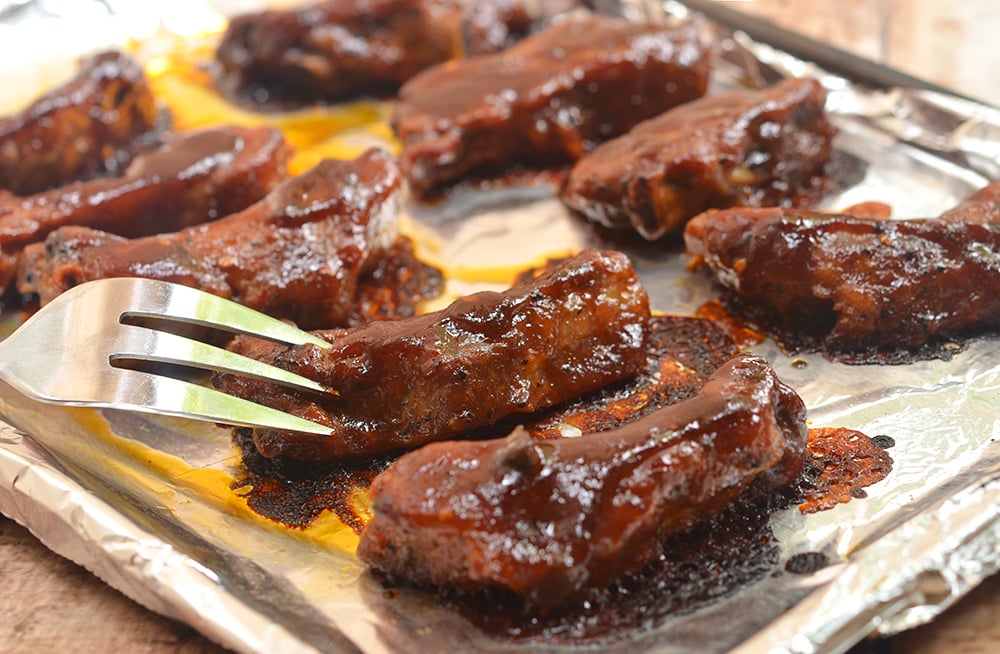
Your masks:
M63 293L0 343L0 378L30 398L53 404L330 435L329 427L170 376L183 366L330 392L281 368L163 331L178 331L177 326L330 346L204 291L149 279L102 279ZM137 369L150 364L171 365L153 372Z

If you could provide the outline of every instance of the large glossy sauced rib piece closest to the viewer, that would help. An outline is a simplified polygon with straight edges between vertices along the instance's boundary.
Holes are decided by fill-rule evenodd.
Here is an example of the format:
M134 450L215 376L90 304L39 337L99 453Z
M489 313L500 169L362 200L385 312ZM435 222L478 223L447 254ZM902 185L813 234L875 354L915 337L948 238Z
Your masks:
M434 443L372 484L358 556L392 577L499 587L542 609L639 571L663 538L802 468L802 400L753 355L623 427Z

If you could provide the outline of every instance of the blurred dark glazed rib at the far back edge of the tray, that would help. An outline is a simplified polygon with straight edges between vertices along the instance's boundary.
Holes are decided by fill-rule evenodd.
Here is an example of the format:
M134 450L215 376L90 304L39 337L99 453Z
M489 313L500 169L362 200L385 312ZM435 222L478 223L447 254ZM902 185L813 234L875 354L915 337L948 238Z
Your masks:
M233 18L216 57L251 95L334 100L395 91L433 64L503 49L530 24L523 0L326 0Z

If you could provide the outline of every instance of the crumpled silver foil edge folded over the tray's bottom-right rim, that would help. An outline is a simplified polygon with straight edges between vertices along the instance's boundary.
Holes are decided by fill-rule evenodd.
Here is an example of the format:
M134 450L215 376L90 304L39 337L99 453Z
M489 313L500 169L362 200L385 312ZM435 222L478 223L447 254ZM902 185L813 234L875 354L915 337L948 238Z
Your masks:
M831 582L733 653L846 651L866 636L931 621L997 572L1000 472L994 471L859 550Z

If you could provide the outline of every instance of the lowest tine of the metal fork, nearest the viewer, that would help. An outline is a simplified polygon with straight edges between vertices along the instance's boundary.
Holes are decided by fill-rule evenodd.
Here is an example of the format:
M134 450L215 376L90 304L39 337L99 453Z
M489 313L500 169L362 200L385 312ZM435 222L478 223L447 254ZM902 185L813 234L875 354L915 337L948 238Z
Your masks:
M208 422L244 427L264 427L282 431L296 431L319 436L331 436L330 427L320 425L290 413L228 395L214 388L207 388L172 377L155 377L134 370L120 370L125 375L125 385L131 390L124 396L110 402L87 402L87 406L103 406L112 409L126 409L194 418ZM131 378L130 378L131 377ZM141 388L138 397L135 390Z

